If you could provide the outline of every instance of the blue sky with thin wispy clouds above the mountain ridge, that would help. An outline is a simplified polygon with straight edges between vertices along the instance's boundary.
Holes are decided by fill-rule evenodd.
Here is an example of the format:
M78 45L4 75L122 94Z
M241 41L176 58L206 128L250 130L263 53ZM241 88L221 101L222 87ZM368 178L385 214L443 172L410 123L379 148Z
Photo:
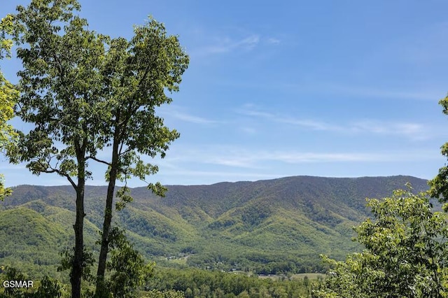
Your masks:
M0 15L28 1L0 0ZM148 15L190 55L158 109L181 133L148 182L284 176L433 178L446 159L448 1L80 0L90 29L132 37ZM2 61L13 83L20 64ZM20 129L20 120L11 122ZM107 152L104 152L106 155ZM87 184L105 185L90 163ZM6 185L66 185L0 157ZM130 180L131 187L144 186Z

